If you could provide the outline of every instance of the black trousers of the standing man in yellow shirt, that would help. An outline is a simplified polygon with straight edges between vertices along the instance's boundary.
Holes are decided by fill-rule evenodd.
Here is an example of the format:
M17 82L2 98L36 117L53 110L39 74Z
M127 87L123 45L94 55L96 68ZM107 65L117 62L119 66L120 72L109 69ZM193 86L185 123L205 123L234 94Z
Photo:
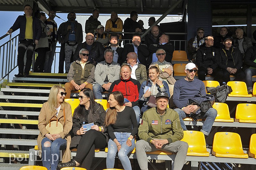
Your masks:
M29 70L32 64L32 57L34 53L35 45L33 44L33 40L22 40L18 45L18 68L20 74L29 74ZM26 66L24 69L24 55L27 51L27 60ZM23 71L24 70L24 71Z

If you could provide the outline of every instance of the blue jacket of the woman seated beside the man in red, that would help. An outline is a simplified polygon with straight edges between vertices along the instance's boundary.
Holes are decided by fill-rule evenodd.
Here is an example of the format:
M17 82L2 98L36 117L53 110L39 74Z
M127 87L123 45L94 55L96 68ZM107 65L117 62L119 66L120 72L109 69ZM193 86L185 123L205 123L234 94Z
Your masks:
M163 85L164 85L164 92L167 92L168 93L168 96L169 96L169 98L170 98L170 92L169 92L169 86L168 86L168 84L166 83L166 81L162 81L163 82ZM144 97L143 97L143 94L144 94L144 89L145 89L145 86L147 85L147 81L143 81L143 83L141 84L141 86L140 86L140 92L139 92L139 99L141 100L141 101L148 101L149 100L149 97L147 98L147 99L145 99ZM152 86L152 81L149 79L149 81L148 81L148 87L151 87ZM157 92L155 92L155 95L154 96L156 96L156 94L158 93L158 92L161 92L161 89L160 89L160 87L159 87L159 85L157 85L156 84L156 87L157 87ZM152 93L151 93L152 94ZM153 94L152 94L153 95ZM144 106L146 106L147 104L146 104L146 102L144 103Z

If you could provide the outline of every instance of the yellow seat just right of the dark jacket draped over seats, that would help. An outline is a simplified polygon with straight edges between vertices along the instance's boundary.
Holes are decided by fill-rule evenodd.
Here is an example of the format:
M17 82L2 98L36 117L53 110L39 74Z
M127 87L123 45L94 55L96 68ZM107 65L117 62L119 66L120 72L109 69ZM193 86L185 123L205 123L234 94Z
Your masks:
M229 97L252 97L252 94L248 94L246 84L242 81L229 81L227 85L232 88L232 92L228 94Z

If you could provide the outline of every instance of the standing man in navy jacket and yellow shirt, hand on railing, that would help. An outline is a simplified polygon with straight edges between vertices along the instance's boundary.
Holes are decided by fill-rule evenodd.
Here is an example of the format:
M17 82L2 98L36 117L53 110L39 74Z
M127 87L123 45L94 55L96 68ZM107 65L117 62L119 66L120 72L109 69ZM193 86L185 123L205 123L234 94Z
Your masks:
M41 23L38 18L32 16L32 7L28 4L24 7L24 15L18 16L12 27L7 33L12 33L20 28L19 45L18 45L18 68L19 73L15 77L28 77L32 64L32 57L35 49L34 44L38 44L38 40L42 34ZM27 32L26 32L27 30ZM26 66L24 69L24 55L27 51ZM24 69L24 70L23 70ZM24 75L23 75L24 73Z

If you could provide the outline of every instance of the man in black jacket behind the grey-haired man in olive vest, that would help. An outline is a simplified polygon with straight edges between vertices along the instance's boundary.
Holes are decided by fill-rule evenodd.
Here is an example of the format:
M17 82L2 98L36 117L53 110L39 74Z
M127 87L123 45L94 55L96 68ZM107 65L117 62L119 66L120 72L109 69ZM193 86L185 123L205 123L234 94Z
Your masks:
M94 64L94 66L104 61L104 48L100 42L94 42L94 35L92 33L87 33L85 37L85 42L80 43L76 47L74 54L74 61L79 58L79 51L85 48L89 51L89 61Z

